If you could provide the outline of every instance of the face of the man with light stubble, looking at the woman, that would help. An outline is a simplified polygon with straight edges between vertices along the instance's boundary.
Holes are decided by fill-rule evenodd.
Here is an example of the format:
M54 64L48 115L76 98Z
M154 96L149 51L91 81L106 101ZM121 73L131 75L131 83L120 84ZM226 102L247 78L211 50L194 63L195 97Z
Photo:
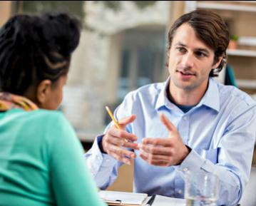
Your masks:
M189 24L182 24L173 36L169 51L170 90L203 91L213 65L214 51L200 41Z

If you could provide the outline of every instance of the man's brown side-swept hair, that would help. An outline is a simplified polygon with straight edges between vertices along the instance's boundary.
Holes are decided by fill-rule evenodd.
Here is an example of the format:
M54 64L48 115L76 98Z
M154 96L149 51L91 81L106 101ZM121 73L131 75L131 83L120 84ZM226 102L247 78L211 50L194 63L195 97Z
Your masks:
M217 76L223 66L225 66L227 59L226 49L230 40L230 33L225 21L218 14L208 10L195 10L188 14L183 14L174 22L168 32L168 52L170 51L175 31L185 23L195 30L195 34L200 41L203 41L203 43L213 49L215 53L213 64L223 56L220 65L210 71L210 76Z

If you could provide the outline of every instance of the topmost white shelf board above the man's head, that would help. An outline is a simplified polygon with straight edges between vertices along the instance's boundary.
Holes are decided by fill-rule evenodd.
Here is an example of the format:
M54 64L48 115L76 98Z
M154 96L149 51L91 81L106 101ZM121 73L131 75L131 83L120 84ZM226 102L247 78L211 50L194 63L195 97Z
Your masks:
M252 3L255 3L255 2L252 2ZM211 3L211 2L209 2L209 3L208 2L198 2L197 3L197 8L256 12L256 6L234 5L234 4L217 4L217 3Z

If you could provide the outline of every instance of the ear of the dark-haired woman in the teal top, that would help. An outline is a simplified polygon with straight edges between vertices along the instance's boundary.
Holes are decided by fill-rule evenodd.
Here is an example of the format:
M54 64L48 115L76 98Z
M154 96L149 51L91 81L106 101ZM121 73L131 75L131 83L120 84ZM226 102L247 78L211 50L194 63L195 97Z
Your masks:
M51 81L48 79L41 81L36 89L36 98L39 104L47 101L49 93L51 93Z

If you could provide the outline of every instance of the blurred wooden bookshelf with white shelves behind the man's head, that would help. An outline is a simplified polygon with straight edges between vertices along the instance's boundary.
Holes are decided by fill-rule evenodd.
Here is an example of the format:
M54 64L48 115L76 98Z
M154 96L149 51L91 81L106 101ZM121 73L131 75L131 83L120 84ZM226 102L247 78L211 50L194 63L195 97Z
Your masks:
M241 38L237 49L227 49L227 63L235 72L238 87L256 93L256 1L185 1L185 12L209 9L222 16L230 34Z

